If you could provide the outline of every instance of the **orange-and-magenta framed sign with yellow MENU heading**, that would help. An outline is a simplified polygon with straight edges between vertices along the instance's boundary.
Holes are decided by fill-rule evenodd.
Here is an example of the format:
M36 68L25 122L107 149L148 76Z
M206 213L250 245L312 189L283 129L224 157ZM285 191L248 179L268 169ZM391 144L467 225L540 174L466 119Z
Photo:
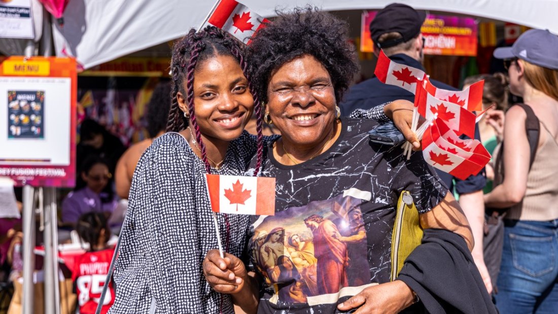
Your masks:
M75 59L0 58L0 177L75 185L76 90Z

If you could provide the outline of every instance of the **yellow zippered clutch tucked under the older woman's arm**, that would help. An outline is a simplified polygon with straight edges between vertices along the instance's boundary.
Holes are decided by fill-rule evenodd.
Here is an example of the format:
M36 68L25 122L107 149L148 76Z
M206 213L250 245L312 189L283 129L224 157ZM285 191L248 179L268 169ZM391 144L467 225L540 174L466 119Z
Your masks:
M408 191L401 192L396 210L391 236L391 281L397 278L405 259L422 241L419 212Z

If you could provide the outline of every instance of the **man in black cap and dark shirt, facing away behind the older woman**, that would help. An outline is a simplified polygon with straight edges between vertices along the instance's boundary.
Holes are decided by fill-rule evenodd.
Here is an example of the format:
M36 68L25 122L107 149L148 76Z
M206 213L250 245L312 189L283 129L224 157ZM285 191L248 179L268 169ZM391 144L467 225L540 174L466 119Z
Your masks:
M380 50L383 50L392 61L424 71L425 69L422 67L424 38L421 34L421 26L425 18L424 11L416 11L401 3L389 4L378 11L370 24L374 55L378 56ZM430 81L437 88L456 90L440 81L432 79ZM339 107L341 114L349 115L356 109L371 109L396 99L407 99L413 102L415 95L398 86L383 84L374 76L352 86ZM475 129L475 138L480 139L478 128ZM492 283L483 257L484 199L482 189L486 184L485 172L483 170L478 175L470 176L466 180L459 180L442 171L437 171L437 173L449 190L455 190L460 196L459 204L469 220L475 240L473 257L485 286L489 292L492 292Z

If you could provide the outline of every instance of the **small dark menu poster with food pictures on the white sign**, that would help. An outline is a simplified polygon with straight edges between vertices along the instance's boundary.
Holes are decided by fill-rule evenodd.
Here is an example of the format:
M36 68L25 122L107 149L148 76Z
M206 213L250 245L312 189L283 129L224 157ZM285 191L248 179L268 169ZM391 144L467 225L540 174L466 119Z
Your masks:
M8 138L44 138L45 91L8 90Z

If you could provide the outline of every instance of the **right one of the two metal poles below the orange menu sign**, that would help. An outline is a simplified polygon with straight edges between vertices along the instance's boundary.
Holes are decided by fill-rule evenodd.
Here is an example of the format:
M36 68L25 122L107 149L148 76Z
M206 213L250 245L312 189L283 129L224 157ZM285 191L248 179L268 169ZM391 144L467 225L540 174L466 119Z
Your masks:
M58 236L56 223L56 190L42 188L45 194L45 314L60 313L58 280Z

